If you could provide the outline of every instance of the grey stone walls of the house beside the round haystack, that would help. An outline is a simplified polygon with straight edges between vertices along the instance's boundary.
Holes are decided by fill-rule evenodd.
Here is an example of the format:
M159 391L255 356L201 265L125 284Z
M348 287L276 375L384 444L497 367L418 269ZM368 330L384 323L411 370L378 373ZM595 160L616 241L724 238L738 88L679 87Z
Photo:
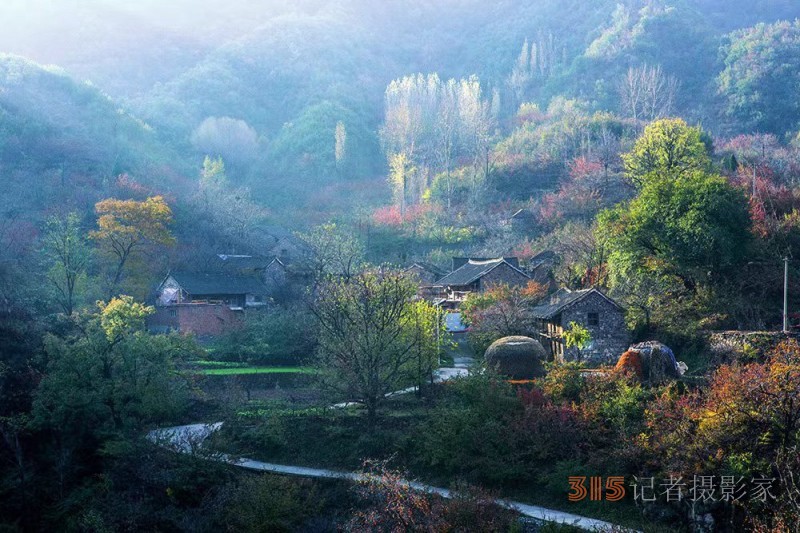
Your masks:
M597 313L598 325L589 325L589 313ZM561 313L561 326L569 328L576 322L589 330L591 346L580 354L582 360L591 364L615 363L630 346L630 332L625 324L625 313L599 294L590 294ZM564 351L567 361L578 358L577 348Z

